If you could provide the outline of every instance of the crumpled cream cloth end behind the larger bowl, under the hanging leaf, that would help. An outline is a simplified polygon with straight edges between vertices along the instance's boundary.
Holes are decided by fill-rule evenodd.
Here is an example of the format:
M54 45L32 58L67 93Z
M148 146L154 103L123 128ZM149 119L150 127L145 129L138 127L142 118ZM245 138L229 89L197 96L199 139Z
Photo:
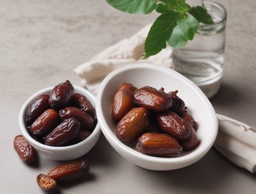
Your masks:
M119 41L100 52L87 63L77 66L74 71L81 78L83 86L97 93L100 82L108 73L115 68L129 65L135 61L136 63L147 62L172 68L172 48L170 47L162 50L156 56L141 60L141 57L144 56L144 41L150 26L151 24L148 24L130 38Z

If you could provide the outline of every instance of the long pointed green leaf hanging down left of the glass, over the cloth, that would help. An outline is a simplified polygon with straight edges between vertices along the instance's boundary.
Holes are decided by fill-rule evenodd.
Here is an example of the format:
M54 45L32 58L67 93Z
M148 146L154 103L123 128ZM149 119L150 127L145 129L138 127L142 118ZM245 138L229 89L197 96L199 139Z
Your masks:
M179 13L172 11L157 17L145 40L145 57L153 56L166 48L166 40L170 38L176 26Z

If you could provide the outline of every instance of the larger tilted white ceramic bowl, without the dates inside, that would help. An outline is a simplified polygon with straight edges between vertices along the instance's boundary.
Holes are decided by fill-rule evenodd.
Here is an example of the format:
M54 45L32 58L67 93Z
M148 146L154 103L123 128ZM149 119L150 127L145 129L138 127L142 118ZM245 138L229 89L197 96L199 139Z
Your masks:
M115 135L115 123L111 118L111 108L116 90L123 82L135 87L164 87L164 91L179 91L186 107L194 117L200 138L198 147L173 158L148 156L126 146ZM131 64L118 68L104 78L97 94L96 112L100 128L111 146L127 161L148 170L173 170L186 167L200 160L211 149L218 133L216 113L205 94L188 78L170 68L152 64Z

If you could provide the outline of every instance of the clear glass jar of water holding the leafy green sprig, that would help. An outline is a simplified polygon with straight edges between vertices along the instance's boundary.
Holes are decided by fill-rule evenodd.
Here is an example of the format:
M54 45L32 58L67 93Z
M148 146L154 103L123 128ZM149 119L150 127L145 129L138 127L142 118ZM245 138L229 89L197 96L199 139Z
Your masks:
M219 3L203 1L214 24L200 23L192 41L172 52L174 70L195 82L208 98L220 88L223 75L227 11Z

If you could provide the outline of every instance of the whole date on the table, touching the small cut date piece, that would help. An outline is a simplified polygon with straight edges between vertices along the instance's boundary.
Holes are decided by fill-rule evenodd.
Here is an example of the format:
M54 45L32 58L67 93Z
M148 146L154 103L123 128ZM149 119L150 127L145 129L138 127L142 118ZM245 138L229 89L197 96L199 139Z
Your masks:
M88 161L73 161L49 170L47 175L57 182L79 179L89 170Z

